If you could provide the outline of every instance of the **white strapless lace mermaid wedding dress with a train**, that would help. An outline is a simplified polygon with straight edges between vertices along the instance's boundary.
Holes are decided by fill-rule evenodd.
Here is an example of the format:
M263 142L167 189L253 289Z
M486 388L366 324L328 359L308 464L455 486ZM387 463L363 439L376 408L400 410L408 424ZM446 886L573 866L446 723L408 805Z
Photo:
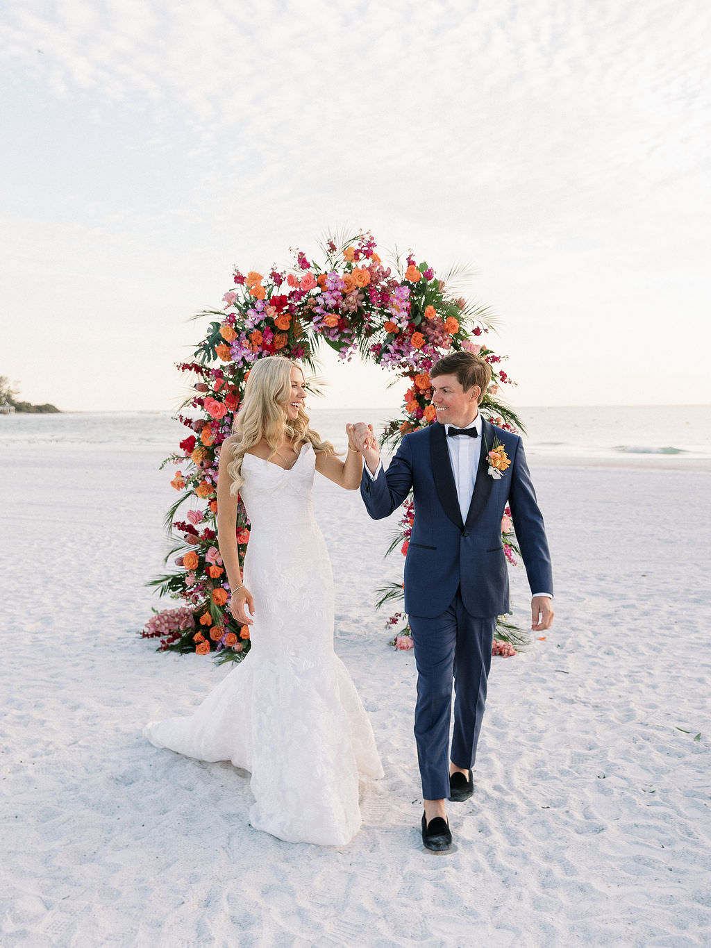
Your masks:
M257 830L343 846L360 826L358 774L383 771L371 723L334 652L333 576L311 500L315 465L310 445L289 470L246 454L251 650L194 714L152 722L143 734L156 747L249 771Z

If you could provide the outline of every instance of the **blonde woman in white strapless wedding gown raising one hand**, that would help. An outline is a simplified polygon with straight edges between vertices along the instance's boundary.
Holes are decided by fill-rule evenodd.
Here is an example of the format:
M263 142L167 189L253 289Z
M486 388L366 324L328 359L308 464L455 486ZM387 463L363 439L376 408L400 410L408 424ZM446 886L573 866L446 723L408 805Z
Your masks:
M188 718L144 735L199 760L231 760L251 774L249 822L292 843L343 846L360 826L358 775L383 775L373 729L333 647L334 591L314 520L315 471L347 490L363 461L309 428L300 366L283 356L253 365L234 434L220 451L217 530L230 608L251 648ZM237 497L251 532L240 575Z

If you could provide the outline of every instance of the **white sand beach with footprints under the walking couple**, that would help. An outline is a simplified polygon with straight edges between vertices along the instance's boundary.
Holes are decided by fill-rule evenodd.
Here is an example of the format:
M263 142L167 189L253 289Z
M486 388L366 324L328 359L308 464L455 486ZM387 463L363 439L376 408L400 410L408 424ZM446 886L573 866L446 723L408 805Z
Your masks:
M3 948L711 943L708 465L533 459L556 621L494 660L475 793L449 805L456 848L435 855L414 662L373 608L402 566L382 558L394 522L320 478L337 653L386 773L363 786L355 840L253 830L244 773L141 737L228 673L132 634L157 605L165 453L3 446ZM514 587L524 621L522 571Z

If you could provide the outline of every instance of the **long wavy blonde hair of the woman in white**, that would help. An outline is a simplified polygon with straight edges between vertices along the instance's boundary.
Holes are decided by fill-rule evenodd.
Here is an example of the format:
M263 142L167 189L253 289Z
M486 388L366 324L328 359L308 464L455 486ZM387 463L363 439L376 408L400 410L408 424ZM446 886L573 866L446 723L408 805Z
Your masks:
M249 371L245 398L232 424L232 431L238 439L231 442L232 457L228 463L229 493L233 497L245 483L242 462L246 452L263 439L271 449L269 457L276 454L284 435L297 450L310 444L317 453L337 453L330 441L321 441L320 435L309 428L309 417L303 407L293 421L283 409L291 398L291 370L295 367L305 378L301 362L285 356L264 356Z

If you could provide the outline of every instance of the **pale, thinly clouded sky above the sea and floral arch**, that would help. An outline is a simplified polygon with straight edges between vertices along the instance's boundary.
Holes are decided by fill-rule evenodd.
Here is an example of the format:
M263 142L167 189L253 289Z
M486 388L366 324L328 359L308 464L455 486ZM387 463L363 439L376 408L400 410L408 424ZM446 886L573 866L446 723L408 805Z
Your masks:
M166 410L243 271L370 230L497 315L525 405L706 404L705 0L0 8L0 374ZM325 407L395 405L325 358Z

